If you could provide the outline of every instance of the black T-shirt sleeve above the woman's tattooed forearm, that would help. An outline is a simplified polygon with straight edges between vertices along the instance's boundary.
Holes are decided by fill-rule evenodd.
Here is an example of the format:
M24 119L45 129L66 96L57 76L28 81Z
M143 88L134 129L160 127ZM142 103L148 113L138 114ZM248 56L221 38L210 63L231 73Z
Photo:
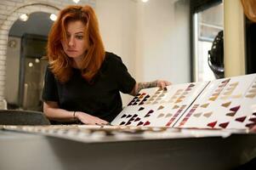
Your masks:
M130 94L135 86L136 81L132 77L127 67L122 63L122 59L117 57L117 67L116 67L117 85L119 90L123 94Z

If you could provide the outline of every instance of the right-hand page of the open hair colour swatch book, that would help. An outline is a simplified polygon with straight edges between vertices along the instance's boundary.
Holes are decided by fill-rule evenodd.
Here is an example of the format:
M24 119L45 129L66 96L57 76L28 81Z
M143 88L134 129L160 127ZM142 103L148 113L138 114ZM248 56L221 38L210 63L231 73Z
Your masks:
M214 80L174 127L247 128L256 123L256 74Z

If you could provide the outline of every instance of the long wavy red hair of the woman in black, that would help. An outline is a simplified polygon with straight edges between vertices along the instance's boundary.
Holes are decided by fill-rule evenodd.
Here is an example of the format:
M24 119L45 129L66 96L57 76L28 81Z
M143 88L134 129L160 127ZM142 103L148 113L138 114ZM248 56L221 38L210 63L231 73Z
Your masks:
M69 21L81 20L85 24L84 37L88 31L89 48L82 59L82 77L91 82L105 59L105 49L94 9L90 6L71 5L60 11L48 34L47 57L51 71L60 82L69 81L72 74L72 59L62 48L67 41L66 28Z

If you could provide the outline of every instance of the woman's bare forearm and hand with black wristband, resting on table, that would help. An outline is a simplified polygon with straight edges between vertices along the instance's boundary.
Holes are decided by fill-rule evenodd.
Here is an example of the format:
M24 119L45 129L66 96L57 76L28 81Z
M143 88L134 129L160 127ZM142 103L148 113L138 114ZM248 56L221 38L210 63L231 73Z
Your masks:
M49 120L58 122L74 122L79 120L88 125L108 124L108 122L100 119L99 117L91 116L82 111L66 111L64 109L60 109L58 103L54 101L43 102L43 113Z

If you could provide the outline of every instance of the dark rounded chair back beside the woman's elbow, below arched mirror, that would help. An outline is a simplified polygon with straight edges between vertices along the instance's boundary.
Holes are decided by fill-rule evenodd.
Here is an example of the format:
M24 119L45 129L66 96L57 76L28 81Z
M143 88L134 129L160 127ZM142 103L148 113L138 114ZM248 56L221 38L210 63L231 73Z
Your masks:
M0 110L0 125L50 125L40 111Z

